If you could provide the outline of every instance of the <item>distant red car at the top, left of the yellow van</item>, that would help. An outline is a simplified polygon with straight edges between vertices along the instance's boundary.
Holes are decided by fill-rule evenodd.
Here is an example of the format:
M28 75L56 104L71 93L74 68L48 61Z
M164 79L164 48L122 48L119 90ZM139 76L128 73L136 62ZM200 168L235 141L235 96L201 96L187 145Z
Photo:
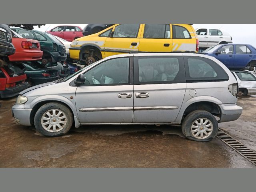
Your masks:
M48 31L48 33L58 36L66 41L73 41L83 36L82 28L78 26L57 26Z

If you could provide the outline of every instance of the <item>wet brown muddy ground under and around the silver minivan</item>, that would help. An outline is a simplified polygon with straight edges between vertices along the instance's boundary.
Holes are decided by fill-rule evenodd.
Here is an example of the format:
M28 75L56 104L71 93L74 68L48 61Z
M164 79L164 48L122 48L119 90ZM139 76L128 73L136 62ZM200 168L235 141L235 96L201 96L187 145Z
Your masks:
M0 101L0 168L255 168L217 137L190 141L176 126L82 126L46 138L33 126L16 124L15 100ZM256 151L256 96L239 98L238 105L242 116L219 128Z

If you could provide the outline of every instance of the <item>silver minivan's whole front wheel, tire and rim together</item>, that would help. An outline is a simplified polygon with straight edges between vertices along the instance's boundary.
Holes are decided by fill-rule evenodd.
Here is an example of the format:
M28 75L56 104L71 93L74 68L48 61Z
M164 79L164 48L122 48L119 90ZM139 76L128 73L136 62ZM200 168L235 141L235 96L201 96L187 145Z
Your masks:
M63 104L51 102L38 109L34 118L36 130L44 136L61 136L72 126L72 112Z

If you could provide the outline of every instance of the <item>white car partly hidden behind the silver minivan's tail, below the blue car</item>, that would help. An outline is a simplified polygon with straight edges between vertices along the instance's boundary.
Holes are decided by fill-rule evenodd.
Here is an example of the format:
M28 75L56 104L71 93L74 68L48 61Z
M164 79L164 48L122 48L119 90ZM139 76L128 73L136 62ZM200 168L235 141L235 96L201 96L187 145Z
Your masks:
M238 96L256 94L256 76L248 71L232 71L238 82Z

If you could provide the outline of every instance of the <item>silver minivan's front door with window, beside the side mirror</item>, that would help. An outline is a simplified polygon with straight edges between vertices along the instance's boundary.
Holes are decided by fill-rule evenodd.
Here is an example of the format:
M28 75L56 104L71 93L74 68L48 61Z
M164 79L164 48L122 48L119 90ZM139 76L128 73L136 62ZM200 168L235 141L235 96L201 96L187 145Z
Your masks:
M104 61L84 73L86 84L76 90L80 123L132 123L133 85L130 58Z

